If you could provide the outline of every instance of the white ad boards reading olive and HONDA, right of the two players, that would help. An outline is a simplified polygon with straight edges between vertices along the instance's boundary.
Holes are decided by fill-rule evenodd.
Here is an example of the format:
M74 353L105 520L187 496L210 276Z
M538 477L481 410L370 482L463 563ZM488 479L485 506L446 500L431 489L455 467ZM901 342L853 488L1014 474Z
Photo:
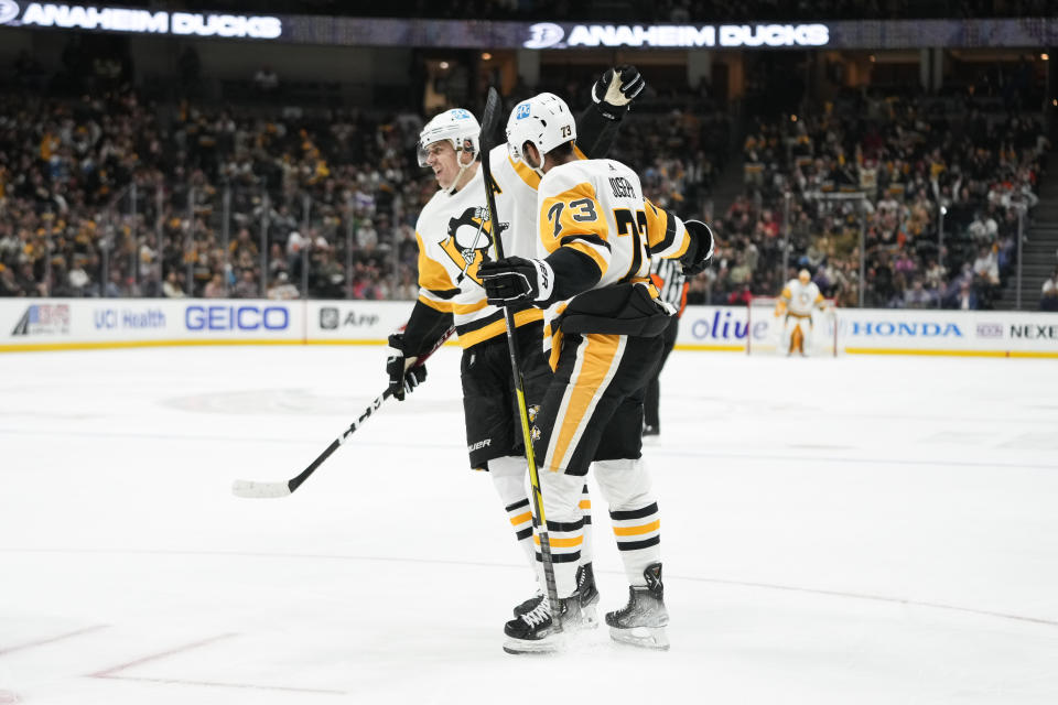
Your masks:
M768 343L784 319L768 310L688 306L677 343L705 349L745 349L746 338ZM1058 352L1058 314L1013 311L839 308L838 347L871 350ZM824 324L824 326L828 324ZM832 334L832 329L813 332Z

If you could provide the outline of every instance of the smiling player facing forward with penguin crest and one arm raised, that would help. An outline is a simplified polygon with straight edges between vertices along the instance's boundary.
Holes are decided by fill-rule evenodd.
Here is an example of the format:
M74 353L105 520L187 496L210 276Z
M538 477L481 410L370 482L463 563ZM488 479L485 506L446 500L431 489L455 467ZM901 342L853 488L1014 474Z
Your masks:
M583 144L593 150L589 154L605 153L620 117L644 85L631 66L609 69L595 83L594 105L580 117L587 133ZM505 252L526 257L536 252L540 176L511 160L503 144L481 154L479 133L477 120L464 109L442 112L420 133L419 162L433 170L439 191L415 225L419 299L403 333L389 339L386 370L390 391L402 400L424 378L421 366L412 367L417 357L455 326L463 347L461 377L469 464L489 471L516 539L533 565L532 513L525 488L526 460L504 312L485 301L478 269L490 259L495 237L503 238ZM497 210L493 221L486 208L481 159L490 160ZM551 377L539 345L542 317L542 312L531 306L515 314L530 409L539 405ZM581 502L590 509L586 489L584 486ZM590 554L579 567L579 581L585 601L597 600ZM515 615L532 609L541 599L538 594L526 600L515 608Z

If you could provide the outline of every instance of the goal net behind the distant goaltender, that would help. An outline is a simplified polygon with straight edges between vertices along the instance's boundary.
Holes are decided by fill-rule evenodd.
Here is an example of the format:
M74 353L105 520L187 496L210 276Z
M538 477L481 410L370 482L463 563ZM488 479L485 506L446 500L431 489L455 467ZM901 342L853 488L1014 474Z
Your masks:
M775 315L778 301L775 296L754 296L749 301L746 326L748 355L788 355L790 336L798 319L785 313ZM833 299L827 299L822 308L812 310L808 328L805 336L807 357L838 357L838 305ZM795 351L794 355L800 354Z

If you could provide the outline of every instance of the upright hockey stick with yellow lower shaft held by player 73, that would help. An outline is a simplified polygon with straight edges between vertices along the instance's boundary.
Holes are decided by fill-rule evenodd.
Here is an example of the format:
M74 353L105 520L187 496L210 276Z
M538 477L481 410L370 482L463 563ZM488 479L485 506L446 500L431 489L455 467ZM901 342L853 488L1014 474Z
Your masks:
M488 204L489 221L493 226L493 247L496 259L504 259L504 245L500 241L499 224L496 219L496 195L493 193L493 172L488 154L493 151L493 135L499 126L499 94L489 87L485 100L485 115L482 116L482 170L485 177L485 200ZM532 487L532 507L537 518L537 535L540 539L540 556L543 558L543 579L548 588L548 603L551 607L551 623L555 631L562 631L559 620L559 589L554 582L554 562L551 558L551 540L548 538L548 520L543 513L543 492L540 491L540 476L537 473L537 458L532 451L532 434L529 432L529 410L526 409L526 386L521 378L521 360L518 359L518 346L515 340L515 314L504 306L504 322L507 325L507 350L510 352L510 369L515 378L515 394L518 398L518 414L521 416L521 438L526 446L526 460L529 464L529 484Z

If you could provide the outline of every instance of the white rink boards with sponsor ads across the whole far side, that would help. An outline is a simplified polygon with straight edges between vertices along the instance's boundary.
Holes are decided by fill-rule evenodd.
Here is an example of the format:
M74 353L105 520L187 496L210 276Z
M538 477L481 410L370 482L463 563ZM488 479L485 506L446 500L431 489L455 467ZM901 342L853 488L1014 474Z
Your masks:
M378 345L411 302L159 299L0 301L0 351L184 345ZM745 352L778 319L744 306L688 306L677 346ZM838 350L849 355L1058 357L1058 314L842 308ZM833 332L820 332L831 335Z

